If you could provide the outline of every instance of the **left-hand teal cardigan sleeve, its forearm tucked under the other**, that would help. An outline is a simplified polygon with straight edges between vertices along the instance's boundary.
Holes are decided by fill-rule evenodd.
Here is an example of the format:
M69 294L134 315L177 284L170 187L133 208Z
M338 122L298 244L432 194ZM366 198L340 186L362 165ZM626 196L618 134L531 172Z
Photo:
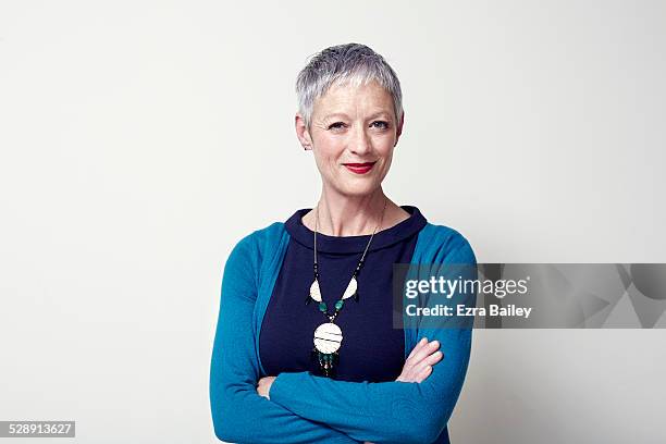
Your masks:
M326 424L301 418L260 396L252 333L260 249L251 235L240 240L224 267L220 313L210 367L210 406L218 439L234 443L355 444Z

